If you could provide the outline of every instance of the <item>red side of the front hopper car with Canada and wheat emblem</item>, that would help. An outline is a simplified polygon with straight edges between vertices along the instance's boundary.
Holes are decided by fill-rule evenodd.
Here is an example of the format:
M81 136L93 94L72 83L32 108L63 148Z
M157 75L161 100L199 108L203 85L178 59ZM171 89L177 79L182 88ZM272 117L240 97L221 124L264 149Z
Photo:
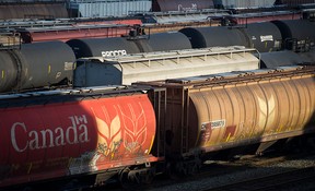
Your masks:
M0 97L0 187L154 160L148 95L42 94Z

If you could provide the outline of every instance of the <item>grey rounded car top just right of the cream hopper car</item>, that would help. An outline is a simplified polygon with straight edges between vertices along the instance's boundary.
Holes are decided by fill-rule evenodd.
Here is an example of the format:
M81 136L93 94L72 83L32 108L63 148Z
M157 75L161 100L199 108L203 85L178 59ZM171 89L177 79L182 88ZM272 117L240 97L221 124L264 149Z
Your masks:
M277 68L284 65L298 65L305 62L310 62L306 58L302 58L300 55L293 51L273 51L260 53L260 68Z

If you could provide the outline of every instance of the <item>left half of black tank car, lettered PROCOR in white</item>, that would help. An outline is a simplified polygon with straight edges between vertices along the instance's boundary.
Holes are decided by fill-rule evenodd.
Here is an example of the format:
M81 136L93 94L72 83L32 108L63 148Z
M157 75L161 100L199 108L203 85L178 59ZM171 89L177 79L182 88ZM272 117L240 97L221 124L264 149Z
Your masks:
M137 44L122 37L70 39L67 44L77 58L139 53Z

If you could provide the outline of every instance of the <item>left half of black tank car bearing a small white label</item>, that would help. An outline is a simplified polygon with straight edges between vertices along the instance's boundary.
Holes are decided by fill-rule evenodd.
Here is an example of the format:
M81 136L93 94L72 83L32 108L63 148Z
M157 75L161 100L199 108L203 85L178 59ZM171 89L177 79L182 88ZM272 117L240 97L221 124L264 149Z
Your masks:
M179 32L189 38L192 48L249 46L245 35L236 28L222 26L187 27L179 29Z

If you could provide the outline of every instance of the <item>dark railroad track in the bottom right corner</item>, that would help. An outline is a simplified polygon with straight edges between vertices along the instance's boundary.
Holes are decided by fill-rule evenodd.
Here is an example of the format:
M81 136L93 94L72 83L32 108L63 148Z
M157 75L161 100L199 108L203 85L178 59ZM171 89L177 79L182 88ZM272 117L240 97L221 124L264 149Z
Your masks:
M258 190L279 190L290 188L296 183L310 182L315 180L315 167L302 169L289 169L264 177L246 179L244 181L225 184L203 191L258 191Z

